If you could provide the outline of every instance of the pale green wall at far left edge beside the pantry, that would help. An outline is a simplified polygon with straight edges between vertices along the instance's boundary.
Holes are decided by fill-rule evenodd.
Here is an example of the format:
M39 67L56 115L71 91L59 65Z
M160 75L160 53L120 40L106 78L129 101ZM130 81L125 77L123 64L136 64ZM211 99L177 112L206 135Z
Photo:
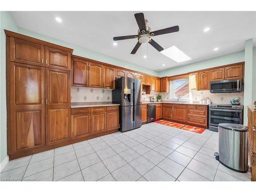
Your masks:
M16 26L11 14L6 11L0 12L0 162L7 156L7 114L6 114L6 36L4 29L17 32Z

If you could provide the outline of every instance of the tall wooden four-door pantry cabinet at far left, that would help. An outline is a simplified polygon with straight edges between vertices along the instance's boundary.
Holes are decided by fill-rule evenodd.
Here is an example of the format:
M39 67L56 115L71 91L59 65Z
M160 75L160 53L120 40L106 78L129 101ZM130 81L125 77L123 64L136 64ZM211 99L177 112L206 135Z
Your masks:
M13 159L71 139L73 50L5 33L8 155Z

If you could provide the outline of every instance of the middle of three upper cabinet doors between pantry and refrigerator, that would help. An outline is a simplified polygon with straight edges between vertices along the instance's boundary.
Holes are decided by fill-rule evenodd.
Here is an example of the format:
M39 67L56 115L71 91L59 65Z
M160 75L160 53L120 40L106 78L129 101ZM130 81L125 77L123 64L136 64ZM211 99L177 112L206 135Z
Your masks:
M103 66L100 64L89 62L88 77L90 88L103 87Z

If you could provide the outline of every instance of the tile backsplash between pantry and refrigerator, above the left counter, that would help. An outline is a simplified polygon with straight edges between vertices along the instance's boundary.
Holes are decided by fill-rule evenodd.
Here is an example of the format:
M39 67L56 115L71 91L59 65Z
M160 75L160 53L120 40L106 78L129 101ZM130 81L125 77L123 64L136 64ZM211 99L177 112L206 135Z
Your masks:
M112 101L112 90L71 87L71 102Z

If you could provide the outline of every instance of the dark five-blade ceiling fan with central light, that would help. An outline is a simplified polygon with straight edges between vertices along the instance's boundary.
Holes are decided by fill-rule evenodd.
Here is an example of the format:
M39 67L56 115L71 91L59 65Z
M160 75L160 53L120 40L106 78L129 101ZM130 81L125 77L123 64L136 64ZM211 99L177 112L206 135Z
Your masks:
M174 33L179 31L179 26L173 26L165 29L160 29L157 31L151 31L151 28L147 26L148 22L144 18L143 13L135 13L134 14L136 22L139 26L138 34L137 35L127 35L127 36L119 36L119 37L114 37L114 40L124 40L124 39L133 39L137 38L138 42L134 49L132 50L131 54L135 54L141 44L146 44L147 42L152 45L157 51L163 51L163 48L152 39L153 36L156 35L163 35L166 33Z

